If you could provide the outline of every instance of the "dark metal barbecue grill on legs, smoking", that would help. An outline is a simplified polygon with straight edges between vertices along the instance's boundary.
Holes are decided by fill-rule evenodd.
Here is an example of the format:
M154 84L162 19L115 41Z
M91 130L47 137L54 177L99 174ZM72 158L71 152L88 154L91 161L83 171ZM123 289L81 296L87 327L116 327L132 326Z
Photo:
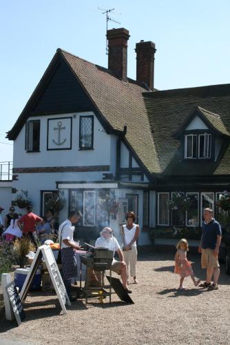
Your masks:
M105 270L109 270L109 277L111 277L111 265L114 259L114 252L106 248L92 248L92 253L81 254L80 266L80 288L85 297L85 304L87 299L100 297L101 301L104 297L109 296L109 303L111 302L111 284L109 283L109 292L104 288L104 274ZM82 287L82 264L86 266L85 286ZM98 287L90 286L90 272L101 273L100 284Z

